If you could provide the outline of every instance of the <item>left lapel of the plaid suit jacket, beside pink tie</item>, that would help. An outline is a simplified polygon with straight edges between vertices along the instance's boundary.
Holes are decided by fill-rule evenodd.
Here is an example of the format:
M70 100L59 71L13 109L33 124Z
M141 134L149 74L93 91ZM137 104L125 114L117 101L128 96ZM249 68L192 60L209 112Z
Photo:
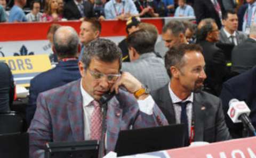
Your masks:
M78 80L77 83L71 87L67 102L69 124L75 141L84 140L83 100L80 82L81 80Z

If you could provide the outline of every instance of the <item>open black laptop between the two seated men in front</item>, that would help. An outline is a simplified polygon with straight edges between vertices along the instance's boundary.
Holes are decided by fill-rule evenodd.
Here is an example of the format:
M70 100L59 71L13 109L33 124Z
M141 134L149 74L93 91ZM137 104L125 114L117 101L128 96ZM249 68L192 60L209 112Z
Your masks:
M184 146L185 125L150 127L119 132L117 156L168 150Z

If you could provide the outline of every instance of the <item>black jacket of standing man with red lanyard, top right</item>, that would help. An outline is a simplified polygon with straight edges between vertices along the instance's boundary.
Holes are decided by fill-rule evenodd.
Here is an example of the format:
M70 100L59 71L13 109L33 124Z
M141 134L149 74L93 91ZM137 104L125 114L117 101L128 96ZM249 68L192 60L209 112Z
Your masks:
M224 13L223 6L221 0L218 0L221 12ZM215 11L214 5L211 0L195 0L194 2L194 11L196 15L196 22L199 23L201 20L205 18L212 18L218 25L220 29L222 24L220 21L219 14Z

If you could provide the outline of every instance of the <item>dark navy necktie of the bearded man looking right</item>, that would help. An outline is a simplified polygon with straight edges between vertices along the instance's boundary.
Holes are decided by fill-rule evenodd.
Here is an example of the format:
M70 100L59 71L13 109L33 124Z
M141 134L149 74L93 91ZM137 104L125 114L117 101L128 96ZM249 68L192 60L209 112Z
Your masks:
M185 125L185 141L184 141L184 145L188 146L189 145L189 135L188 135L188 116L187 116L187 104L190 101L186 101L186 102L178 102L177 104L179 104L181 106L181 115L180 115L180 122L182 124Z

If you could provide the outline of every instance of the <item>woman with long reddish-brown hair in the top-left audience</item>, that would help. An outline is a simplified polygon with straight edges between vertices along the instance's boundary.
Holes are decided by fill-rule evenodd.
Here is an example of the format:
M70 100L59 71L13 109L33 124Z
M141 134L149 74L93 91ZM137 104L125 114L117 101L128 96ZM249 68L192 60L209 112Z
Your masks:
M62 16L59 14L58 8L59 5L57 0L49 0L46 2L41 21L60 21Z

